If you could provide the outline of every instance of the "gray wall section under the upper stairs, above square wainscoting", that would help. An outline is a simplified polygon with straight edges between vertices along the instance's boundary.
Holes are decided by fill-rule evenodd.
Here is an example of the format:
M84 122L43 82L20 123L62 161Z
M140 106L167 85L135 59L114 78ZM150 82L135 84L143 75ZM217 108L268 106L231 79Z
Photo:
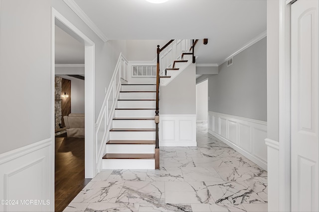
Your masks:
M195 71L195 64L191 64L168 85L160 87L160 114L196 114Z

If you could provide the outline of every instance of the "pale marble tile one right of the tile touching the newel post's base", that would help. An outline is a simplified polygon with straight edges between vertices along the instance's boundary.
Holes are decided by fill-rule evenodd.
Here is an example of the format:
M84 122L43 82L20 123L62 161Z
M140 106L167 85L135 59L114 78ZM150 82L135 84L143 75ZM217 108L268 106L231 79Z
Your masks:
M222 181L212 167L182 167L181 171L185 181Z

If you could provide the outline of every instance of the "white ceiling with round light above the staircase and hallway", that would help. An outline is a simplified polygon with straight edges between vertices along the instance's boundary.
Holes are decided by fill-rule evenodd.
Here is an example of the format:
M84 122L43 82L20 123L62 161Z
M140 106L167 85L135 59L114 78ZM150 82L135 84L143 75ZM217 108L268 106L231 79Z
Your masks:
M266 31L266 0L74 0L110 40L203 39L196 63L220 64Z

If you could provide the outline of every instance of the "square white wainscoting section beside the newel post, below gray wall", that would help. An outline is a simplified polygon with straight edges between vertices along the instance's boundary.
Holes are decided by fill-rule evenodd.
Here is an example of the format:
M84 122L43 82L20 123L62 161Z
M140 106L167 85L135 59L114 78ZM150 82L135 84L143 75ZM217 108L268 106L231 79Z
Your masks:
M196 146L196 114L160 114L160 146Z

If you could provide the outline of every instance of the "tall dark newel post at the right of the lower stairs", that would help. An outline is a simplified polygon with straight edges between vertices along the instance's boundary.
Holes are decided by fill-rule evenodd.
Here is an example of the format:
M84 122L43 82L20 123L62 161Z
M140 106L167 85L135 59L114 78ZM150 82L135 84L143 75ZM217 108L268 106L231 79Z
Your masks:
M160 92L160 45L157 48L157 72L156 72L156 111L155 111L155 168L160 168L160 148L159 148L159 123L160 123L160 116L159 116L159 92Z

